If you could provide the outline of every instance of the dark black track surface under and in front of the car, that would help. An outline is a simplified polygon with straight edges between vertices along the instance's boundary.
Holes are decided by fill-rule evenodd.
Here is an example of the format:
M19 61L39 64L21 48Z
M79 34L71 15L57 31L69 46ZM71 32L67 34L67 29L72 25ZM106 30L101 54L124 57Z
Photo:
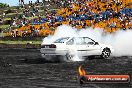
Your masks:
M87 74L132 75L132 57L47 62L37 49L0 49L0 88L132 88L130 84L78 83L78 67Z

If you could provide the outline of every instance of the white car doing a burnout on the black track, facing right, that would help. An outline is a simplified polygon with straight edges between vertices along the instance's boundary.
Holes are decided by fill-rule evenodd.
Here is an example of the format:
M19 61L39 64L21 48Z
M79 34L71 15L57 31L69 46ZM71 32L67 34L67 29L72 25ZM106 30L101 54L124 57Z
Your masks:
M64 56L64 60L73 60L75 56L101 56L106 59L113 51L110 45L99 44L89 37L63 37L52 44L42 44L40 49L42 57L47 60L55 59L52 58L54 56Z

